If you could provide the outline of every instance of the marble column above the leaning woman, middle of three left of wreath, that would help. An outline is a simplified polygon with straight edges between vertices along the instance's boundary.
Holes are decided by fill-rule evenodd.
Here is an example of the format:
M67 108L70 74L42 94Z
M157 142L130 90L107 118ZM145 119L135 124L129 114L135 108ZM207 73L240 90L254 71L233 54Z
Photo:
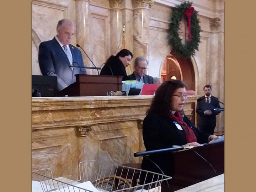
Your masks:
M110 2L110 52L116 55L122 49L123 37L123 17L122 4L123 0L109 0Z

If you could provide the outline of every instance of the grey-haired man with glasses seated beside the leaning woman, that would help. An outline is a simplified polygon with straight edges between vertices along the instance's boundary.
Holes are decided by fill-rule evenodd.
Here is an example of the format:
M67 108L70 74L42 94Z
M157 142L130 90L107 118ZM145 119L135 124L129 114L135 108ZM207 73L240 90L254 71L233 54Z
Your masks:
M130 80L143 81L143 83L153 84L153 77L146 75L148 61L144 57L137 57L134 61L134 72L128 75Z

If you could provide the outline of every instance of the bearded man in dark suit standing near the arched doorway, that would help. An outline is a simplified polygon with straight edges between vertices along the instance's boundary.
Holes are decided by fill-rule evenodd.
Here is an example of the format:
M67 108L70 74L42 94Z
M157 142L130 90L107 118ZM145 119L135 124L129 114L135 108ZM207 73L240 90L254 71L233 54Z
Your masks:
M211 95L212 87L210 85L204 86L204 96L198 98L196 112L199 115L198 127L201 131L213 135L216 126L216 115L211 109L220 108L217 97ZM212 97L212 98L210 98Z

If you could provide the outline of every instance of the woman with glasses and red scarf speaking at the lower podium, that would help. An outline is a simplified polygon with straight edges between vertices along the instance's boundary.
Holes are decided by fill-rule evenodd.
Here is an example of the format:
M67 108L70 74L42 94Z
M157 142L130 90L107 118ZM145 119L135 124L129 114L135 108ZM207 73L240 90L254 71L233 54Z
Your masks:
M143 121L146 151L177 146L198 147L201 146L199 143L207 143L219 138L199 131L186 115L182 114L186 98L186 85L181 80L170 79L158 87ZM165 175L174 175L172 152L151 154L148 157L162 169ZM142 169L161 173L146 158L142 160Z

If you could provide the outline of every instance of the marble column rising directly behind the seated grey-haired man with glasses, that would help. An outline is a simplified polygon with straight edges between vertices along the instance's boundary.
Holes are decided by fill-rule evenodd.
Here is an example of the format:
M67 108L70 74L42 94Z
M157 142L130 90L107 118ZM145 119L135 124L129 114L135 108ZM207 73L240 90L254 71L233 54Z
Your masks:
M149 8L153 0L132 0L133 4L133 57L148 60Z

